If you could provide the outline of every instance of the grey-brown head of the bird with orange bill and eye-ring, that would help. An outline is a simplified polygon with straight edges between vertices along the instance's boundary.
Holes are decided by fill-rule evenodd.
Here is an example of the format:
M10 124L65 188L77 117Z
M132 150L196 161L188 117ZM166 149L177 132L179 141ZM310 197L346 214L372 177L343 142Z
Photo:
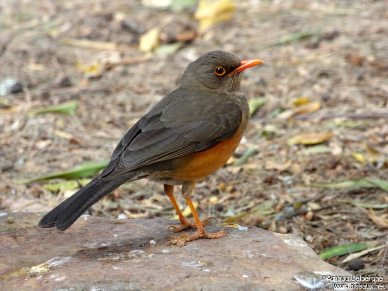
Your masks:
M240 88L241 72L262 63L261 60L240 61L234 54L214 50L189 64L183 73L182 87L210 88L220 93Z

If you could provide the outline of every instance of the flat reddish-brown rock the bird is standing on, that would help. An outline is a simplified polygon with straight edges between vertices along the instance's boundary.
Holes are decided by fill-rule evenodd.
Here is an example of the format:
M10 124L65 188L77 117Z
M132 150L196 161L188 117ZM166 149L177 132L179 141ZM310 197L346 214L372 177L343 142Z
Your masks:
M179 248L168 244L171 220L82 216L59 232L36 226L40 217L0 214L1 291L302 291L299 272L348 275L298 236L257 227Z

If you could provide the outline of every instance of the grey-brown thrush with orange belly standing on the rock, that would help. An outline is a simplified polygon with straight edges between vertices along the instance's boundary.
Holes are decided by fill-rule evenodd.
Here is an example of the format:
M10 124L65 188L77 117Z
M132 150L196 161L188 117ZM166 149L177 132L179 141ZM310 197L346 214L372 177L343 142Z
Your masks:
M193 235L175 237L175 244L224 237L223 230L205 230L212 217L199 219L191 194L195 183L225 165L239 145L250 118L246 97L240 91L242 72L262 62L241 61L230 52L214 50L190 63L180 86L128 130L105 169L49 211L38 225L64 231L121 184L148 178L164 185L164 193L177 211L180 225L171 226L173 231L197 228ZM194 221L178 207L174 197L178 185Z

